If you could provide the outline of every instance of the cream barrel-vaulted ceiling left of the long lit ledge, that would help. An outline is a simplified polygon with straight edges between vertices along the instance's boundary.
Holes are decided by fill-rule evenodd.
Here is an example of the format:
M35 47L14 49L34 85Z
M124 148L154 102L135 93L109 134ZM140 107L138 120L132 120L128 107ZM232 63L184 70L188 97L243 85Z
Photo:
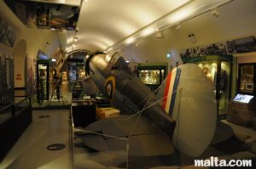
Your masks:
M85 0L75 48L103 51L188 1ZM67 47L71 47L73 33L68 35Z

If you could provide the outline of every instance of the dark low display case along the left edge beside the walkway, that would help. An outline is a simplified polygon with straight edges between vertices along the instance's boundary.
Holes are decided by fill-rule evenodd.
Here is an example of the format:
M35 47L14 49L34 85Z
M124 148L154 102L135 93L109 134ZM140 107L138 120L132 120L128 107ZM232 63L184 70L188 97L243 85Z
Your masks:
M18 97L13 103L0 104L0 162L32 122L30 99Z

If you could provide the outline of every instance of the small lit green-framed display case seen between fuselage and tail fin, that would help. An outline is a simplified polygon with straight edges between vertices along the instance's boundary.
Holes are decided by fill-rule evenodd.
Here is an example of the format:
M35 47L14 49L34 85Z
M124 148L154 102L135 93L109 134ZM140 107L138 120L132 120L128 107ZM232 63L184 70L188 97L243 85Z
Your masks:
M137 76L151 90L155 90L165 80L166 69L167 64L139 64L137 66Z

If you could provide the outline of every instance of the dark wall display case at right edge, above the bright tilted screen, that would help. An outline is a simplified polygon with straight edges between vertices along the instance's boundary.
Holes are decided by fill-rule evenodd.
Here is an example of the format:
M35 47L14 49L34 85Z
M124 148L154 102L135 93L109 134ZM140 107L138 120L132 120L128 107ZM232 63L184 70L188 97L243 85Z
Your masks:
M239 64L238 66L238 90L237 93L255 95L256 64Z

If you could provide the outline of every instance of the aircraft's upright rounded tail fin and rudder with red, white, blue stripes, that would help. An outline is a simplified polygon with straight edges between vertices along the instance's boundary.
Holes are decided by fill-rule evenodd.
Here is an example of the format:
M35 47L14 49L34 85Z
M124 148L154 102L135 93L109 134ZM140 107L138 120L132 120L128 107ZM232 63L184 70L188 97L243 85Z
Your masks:
M176 121L172 136L175 147L190 156L199 156L211 143L217 121L212 84L200 67L180 65L166 77L158 99Z

